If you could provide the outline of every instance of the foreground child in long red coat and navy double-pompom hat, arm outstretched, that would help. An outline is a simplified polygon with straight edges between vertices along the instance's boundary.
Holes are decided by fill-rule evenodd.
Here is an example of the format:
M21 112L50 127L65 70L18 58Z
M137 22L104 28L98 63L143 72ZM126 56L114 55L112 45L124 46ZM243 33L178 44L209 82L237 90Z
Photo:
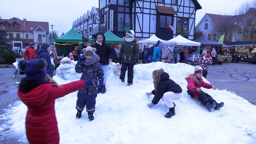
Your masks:
M60 136L54 110L55 99L75 92L92 81L75 81L59 86L46 75L47 62L39 60L20 60L19 69L24 71L19 85L18 96L28 106L26 134L30 144L59 144ZM51 82L50 82L51 81Z

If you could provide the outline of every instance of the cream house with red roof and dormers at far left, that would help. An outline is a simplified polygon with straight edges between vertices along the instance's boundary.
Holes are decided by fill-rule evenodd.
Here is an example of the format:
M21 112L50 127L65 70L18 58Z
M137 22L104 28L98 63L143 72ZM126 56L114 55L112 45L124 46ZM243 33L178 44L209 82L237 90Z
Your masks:
M20 41L23 47L31 42L49 43L49 22L0 19L0 23L0 28L8 32L9 43Z

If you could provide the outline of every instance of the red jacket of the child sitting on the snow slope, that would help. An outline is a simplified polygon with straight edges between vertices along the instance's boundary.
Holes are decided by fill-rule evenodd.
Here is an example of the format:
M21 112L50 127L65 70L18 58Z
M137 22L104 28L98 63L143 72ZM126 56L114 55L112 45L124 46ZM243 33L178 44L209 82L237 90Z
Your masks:
M198 80L199 80L199 84L196 84L196 81L195 81L194 77L191 77L188 80L188 85L187 85L188 90L190 90L192 93L195 94L194 98L196 98L196 99L198 99L199 94L203 92L203 91L197 92L196 91L197 88L200 88L200 87L204 87L204 88L207 88L207 89L212 88L212 85L208 84L208 83L205 83L202 78L200 78Z

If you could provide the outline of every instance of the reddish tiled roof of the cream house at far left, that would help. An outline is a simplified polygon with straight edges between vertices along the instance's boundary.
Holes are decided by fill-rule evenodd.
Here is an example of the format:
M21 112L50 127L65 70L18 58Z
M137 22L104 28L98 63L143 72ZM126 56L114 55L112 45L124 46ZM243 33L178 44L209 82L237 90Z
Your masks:
M12 26L8 27L5 25L5 30L7 31L33 32L38 26L41 26L46 31L46 33L49 33L49 22L0 19L0 22L4 21L7 21L11 24L16 22L20 25L19 28L13 28ZM1 27L3 27L3 24L1 24ZM31 27L33 27L33 29L30 29Z

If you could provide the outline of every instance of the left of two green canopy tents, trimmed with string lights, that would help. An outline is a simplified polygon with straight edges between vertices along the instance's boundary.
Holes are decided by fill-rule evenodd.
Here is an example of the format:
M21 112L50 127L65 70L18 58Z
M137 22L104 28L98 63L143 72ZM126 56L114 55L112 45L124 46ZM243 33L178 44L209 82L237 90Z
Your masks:
M91 39L91 43L94 42ZM66 34L54 39L55 48L58 56L68 56L72 52L74 46L78 46L79 42L82 42L82 35L78 33L74 28L71 28Z

